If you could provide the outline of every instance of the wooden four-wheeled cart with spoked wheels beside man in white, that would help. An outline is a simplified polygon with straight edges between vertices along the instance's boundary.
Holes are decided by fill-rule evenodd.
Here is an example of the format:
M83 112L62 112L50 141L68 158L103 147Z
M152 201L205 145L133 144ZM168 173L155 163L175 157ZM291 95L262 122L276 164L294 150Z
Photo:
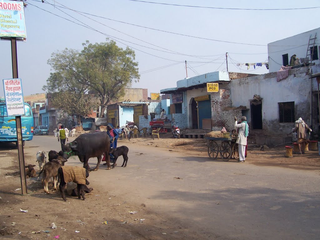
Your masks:
M208 141L208 155L216 159L220 154L223 161L228 162L230 158L239 160L238 144L236 138L214 138L205 137ZM221 143L220 143L221 142ZM220 143L220 145L218 145Z

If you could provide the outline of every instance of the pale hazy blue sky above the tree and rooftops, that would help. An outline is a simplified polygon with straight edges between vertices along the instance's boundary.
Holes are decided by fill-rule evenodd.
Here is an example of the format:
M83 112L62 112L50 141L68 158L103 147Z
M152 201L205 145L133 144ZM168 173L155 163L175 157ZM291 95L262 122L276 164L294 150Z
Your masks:
M292 0L290 4L288 1L277 0L145 1L250 9L320 6L320 2L316 0L308 2ZM176 82L186 77L185 61L187 61L188 77L214 71L227 71L226 52L228 52L229 72L264 74L268 72L265 66L250 68L248 71L245 66L238 67L236 63L268 61L268 43L318 28L320 10L320 8L277 11L230 10L151 4L131 0L45 0L45 3L41 0L27 0L27 3L28 6L25 7L27 41L17 43L18 71L24 95L44 92L42 87L51 72L47 60L50 59L52 52L65 48L81 50L82 43L86 40L100 43L106 41L106 35L116 40L118 46L122 48L129 46L135 51L136 61L139 62L140 81L133 83L132 87L147 88L149 95L150 92L176 87ZM64 8L61 8L61 4ZM95 16L79 14L73 10ZM89 26L96 31L79 24ZM0 77L12 78L10 41L0 41L0 54ZM0 96L4 96L3 84L0 87Z

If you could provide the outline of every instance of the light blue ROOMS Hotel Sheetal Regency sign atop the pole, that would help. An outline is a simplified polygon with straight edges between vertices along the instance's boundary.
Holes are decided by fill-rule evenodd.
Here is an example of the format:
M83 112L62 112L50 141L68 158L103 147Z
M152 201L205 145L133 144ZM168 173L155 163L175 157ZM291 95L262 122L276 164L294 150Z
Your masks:
M0 37L27 37L22 1L0 0Z

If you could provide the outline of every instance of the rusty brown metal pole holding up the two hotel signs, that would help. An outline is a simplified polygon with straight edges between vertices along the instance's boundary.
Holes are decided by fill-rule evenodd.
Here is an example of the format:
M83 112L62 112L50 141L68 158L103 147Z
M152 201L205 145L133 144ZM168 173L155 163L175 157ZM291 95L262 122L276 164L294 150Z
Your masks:
M15 37L11 38L11 56L12 56L12 76L18 78L18 57L17 57L17 40ZM21 116L16 116L16 129L17 129L17 147L20 167L20 180L22 195L28 194L27 180L24 164L24 153L22 145L22 129L21 129Z

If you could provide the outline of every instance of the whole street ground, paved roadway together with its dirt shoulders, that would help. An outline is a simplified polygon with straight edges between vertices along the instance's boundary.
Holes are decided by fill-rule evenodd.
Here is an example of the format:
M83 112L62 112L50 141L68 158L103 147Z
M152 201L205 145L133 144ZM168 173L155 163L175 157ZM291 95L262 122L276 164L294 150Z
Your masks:
M122 158L109 171L101 164L89 176L92 195L67 202L59 192L44 194L34 179L28 188L35 192L20 196L17 150L2 148L0 233L5 239L318 239L314 153L299 156L314 159L311 165L289 163L290 169L261 166L289 161L278 156L276 162L272 151L251 151L246 164L212 161L199 142L193 151L187 140L119 141L130 149L127 167L120 167ZM50 149L59 149L56 138L36 136L26 143L26 163ZM94 167L96 159L89 163ZM67 164L81 166L77 157Z

